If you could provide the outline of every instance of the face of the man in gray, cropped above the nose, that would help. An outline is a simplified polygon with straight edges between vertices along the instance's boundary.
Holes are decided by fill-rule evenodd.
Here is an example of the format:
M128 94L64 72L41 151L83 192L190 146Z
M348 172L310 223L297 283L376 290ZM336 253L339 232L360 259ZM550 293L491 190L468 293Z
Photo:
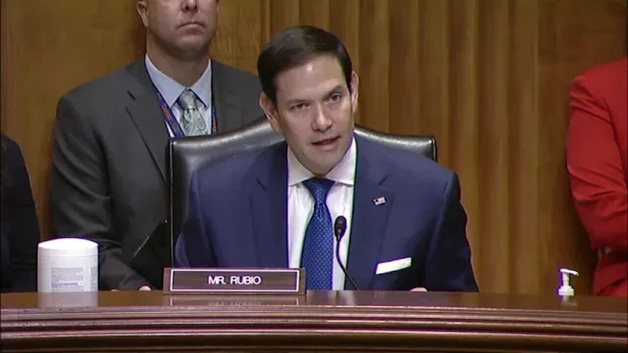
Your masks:
M140 0L149 40L177 58L207 55L216 33L217 0Z

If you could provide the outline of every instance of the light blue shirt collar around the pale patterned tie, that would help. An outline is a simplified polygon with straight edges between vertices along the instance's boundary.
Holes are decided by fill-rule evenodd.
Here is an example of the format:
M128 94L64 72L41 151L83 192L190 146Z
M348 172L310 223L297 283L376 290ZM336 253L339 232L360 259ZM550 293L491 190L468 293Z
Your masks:
M161 72L151 59L148 57L148 54L144 57L144 62L146 63L146 70L148 71L148 76L153 81L153 84L160 92L163 99L168 104L168 107L172 108L175 105L176 99L181 95L183 90L189 88L194 92L198 99L208 107L212 102L212 60L207 60L207 68L205 68L205 72L198 78L197 82L192 85L192 87L183 87L180 83L173 80L170 76Z

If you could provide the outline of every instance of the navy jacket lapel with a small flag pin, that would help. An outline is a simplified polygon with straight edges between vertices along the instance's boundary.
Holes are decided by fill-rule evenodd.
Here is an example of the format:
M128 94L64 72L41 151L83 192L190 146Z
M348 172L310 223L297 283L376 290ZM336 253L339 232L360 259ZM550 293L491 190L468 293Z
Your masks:
M376 158L370 157L376 155L370 151L371 144L357 136L355 141L357 161L347 271L354 276L361 289L371 289L394 193L382 185L387 176L386 168L380 166ZM378 199L380 201L376 205L374 200ZM381 203L381 200L385 202ZM345 288L351 288L347 286L347 281Z

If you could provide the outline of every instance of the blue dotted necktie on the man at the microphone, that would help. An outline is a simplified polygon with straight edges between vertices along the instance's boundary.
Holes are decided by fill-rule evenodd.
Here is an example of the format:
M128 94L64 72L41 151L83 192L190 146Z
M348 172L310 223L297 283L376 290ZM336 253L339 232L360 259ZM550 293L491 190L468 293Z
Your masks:
M327 193L333 180L311 178L303 185L314 197L314 212L305 230L301 267L305 268L305 288L308 290L332 289L333 228L332 216L327 208Z

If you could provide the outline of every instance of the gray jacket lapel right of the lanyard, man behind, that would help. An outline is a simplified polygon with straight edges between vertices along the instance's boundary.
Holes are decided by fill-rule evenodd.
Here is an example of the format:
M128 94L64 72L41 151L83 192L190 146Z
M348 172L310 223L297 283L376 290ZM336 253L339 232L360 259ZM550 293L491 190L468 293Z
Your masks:
M225 75L224 65L212 60L212 104L216 109L216 121L219 133L242 126L242 109L234 93L229 92L224 84L229 79Z

